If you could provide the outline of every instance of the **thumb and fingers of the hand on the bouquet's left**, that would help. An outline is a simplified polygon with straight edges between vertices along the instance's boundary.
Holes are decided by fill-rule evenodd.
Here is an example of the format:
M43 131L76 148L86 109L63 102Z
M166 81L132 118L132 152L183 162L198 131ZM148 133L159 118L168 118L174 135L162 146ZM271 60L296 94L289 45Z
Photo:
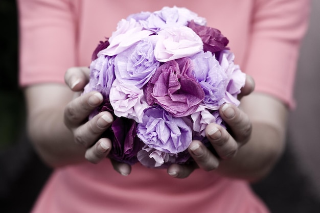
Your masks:
M92 163L98 163L106 158L111 150L110 139L101 135L111 126L113 117L110 112L103 111L88 121L88 115L103 102L103 96L98 91L80 96L89 80L88 68L70 68L64 79L65 83L76 92L74 99L64 109L64 124L73 133L75 143L86 149L85 158ZM128 175L131 171L130 166L125 163L112 161L112 164L122 175Z

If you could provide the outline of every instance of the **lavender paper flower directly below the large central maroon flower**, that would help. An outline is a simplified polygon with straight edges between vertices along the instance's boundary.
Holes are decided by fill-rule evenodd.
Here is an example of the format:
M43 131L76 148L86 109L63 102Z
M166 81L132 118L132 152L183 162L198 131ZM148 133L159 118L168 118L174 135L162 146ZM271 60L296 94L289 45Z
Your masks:
M177 154L191 144L191 127L160 107L146 109L142 121L137 127L138 137L150 148Z

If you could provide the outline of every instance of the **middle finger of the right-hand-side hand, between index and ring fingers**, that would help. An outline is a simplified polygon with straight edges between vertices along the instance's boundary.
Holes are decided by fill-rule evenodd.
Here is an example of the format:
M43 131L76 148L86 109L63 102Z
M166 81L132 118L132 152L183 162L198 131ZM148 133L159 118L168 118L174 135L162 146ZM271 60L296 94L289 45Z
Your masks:
M236 155L239 144L223 127L209 124L205 134L221 159L231 159Z

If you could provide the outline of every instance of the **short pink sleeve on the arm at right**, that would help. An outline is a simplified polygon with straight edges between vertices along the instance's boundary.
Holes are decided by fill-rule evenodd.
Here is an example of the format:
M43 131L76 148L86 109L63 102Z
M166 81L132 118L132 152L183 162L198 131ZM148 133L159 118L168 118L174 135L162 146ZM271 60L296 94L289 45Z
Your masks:
M256 91L294 107L293 84L301 39L307 28L309 0L259 0L244 70Z

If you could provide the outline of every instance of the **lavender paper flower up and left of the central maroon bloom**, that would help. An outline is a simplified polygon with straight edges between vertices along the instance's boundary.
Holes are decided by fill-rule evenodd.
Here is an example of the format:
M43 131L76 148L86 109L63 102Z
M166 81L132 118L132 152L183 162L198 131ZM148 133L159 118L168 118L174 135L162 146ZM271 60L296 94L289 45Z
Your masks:
M150 40L142 40L115 58L115 75L120 82L142 88L152 77L160 62L155 60Z

